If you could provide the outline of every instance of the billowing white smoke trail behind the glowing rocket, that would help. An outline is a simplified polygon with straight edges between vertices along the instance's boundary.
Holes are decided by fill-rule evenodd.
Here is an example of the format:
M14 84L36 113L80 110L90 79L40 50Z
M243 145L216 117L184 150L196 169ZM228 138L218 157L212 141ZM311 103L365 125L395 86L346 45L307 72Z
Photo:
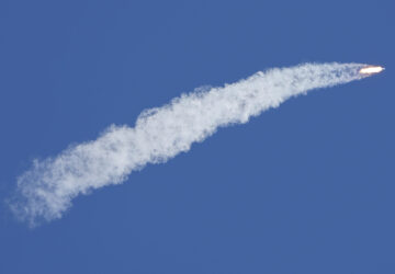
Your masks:
M35 160L18 179L11 209L31 226L60 218L77 195L122 183L132 171L165 162L218 127L247 123L291 96L364 78L359 73L364 66L305 64L182 94L165 106L144 111L133 128L111 126L97 140L70 147L55 158Z

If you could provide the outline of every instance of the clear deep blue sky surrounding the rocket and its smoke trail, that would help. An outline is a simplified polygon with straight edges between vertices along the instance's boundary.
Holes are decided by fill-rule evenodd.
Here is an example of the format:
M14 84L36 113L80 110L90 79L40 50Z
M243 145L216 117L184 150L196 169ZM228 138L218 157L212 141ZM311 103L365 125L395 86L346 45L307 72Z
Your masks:
M395 2L0 1L0 199L34 158L203 84L305 61L384 73L290 100L29 229L0 273L395 273Z

